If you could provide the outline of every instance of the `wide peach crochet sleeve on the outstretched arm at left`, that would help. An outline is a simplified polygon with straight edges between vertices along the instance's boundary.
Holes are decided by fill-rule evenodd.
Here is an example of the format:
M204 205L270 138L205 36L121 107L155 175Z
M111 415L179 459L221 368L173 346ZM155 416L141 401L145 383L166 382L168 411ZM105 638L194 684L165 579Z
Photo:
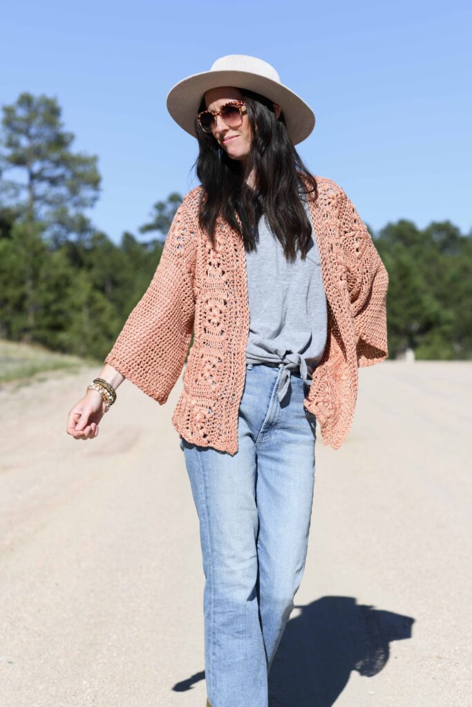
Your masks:
M182 372L192 338L198 232L194 192L175 212L151 283L105 357L105 363L161 405Z

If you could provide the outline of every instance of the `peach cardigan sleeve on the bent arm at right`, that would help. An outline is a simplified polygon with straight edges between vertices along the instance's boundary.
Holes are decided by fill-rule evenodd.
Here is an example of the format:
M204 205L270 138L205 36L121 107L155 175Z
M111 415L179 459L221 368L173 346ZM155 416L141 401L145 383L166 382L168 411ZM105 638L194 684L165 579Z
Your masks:
M343 191L339 213L347 290L357 336L357 365L373 366L388 356L388 273L367 226Z

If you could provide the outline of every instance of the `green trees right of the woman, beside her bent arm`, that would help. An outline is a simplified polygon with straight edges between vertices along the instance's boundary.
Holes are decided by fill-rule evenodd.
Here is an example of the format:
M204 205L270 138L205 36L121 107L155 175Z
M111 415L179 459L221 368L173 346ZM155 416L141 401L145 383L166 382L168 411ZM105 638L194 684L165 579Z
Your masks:
M472 237L450 221L401 220L376 239L388 271L388 350L418 359L472 358Z

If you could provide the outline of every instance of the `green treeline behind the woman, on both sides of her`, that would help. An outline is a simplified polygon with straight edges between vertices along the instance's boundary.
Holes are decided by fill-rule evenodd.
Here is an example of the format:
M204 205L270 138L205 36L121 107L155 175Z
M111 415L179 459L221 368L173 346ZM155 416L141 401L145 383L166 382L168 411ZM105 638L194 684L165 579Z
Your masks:
M97 156L74 153L55 98L2 107L0 337L103 360L161 257L180 194L154 204L115 245L85 216L100 192ZM390 358L472 358L472 232L411 221L372 233L389 275Z

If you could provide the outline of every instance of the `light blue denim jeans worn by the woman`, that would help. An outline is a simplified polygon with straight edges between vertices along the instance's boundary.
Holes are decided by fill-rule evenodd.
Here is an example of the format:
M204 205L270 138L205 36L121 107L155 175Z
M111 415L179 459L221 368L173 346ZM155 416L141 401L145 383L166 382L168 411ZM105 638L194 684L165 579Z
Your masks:
M205 677L212 707L267 707L268 673L304 573L316 417L308 385L246 364L234 455L180 438L200 521Z

